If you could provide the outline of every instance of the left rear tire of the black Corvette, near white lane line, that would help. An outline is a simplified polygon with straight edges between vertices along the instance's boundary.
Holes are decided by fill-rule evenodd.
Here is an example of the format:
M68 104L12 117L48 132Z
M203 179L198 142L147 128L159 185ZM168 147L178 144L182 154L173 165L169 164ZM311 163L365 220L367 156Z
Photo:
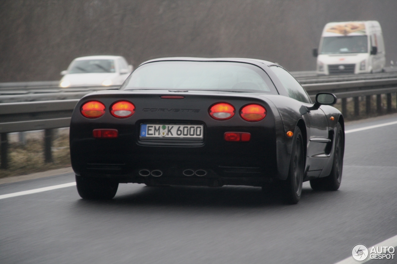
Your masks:
M116 195L118 181L76 175L76 186L83 199L110 200Z

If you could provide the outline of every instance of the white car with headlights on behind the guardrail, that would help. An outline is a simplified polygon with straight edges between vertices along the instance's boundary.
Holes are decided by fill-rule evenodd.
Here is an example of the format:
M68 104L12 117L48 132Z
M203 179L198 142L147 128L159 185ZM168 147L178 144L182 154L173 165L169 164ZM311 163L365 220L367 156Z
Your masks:
M128 65L121 56L87 56L74 59L60 80L59 86L116 86L123 84L132 72L132 65Z

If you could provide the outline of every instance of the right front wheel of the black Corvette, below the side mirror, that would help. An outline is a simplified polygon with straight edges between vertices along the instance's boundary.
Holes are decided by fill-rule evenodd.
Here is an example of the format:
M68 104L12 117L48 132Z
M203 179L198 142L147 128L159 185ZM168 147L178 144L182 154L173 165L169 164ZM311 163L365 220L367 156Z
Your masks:
M341 124L337 124L335 134L335 150L330 175L310 181L310 186L315 191L336 191L341 186L343 169L343 130Z

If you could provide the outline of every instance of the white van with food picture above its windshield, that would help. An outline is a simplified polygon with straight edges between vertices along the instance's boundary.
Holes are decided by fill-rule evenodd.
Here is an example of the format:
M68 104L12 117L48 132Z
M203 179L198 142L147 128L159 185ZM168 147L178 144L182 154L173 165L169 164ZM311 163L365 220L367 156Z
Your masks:
M318 75L382 72L386 58L380 24L378 21L328 23L313 55L317 57Z

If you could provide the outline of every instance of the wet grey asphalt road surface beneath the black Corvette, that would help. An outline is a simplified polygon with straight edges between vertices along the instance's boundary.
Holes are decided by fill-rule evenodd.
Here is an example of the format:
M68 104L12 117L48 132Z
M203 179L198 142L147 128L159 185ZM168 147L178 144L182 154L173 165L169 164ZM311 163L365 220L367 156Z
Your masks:
M346 134L340 189L315 192L306 182L298 205L241 186L120 184L112 201L82 200L72 186L1 199L0 263L332 264L358 243L397 235L396 131ZM73 181L3 184L0 195Z

